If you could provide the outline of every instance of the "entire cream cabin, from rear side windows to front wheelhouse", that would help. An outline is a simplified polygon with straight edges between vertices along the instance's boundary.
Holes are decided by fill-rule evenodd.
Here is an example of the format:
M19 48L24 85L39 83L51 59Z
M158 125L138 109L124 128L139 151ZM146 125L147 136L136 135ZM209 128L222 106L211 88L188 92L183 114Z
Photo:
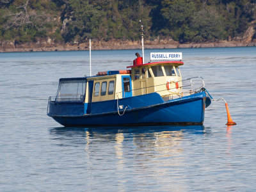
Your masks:
M182 76L181 61L163 61L131 66L131 70L122 70L121 74L87 78L85 102L122 99L147 93L159 93L163 99L170 95L179 95ZM125 71L125 73L124 73ZM121 71L117 71L121 72Z

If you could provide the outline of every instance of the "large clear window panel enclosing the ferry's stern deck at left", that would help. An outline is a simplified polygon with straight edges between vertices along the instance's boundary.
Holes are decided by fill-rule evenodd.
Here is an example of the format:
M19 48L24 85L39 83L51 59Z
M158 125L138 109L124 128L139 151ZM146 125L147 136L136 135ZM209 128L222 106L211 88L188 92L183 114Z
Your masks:
M83 102L86 79L62 79L56 97L57 102Z

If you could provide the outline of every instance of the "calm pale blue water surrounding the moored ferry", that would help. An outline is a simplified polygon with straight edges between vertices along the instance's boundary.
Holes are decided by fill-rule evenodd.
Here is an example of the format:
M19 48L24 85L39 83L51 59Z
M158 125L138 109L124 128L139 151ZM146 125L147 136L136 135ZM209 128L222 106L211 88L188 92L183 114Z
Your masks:
M92 51L92 74L136 51ZM150 51L183 52L183 78L204 77L237 125L219 101L204 126L62 127L48 97L90 75L88 51L0 53L0 191L255 191L256 47Z

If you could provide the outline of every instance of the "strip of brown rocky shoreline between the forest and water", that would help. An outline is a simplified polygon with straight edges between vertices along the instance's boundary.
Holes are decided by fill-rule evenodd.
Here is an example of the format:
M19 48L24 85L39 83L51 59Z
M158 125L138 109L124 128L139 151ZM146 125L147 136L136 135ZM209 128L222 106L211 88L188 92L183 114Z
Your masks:
M220 42L205 42L205 43L189 43L179 44L173 40L163 41L146 41L145 49L177 49L177 48L206 48L206 47L254 47L256 40L253 42L235 42L235 41L220 41ZM92 42L92 50L122 50L122 49L141 49L140 41L118 41L110 42ZM26 43L14 45L12 42L0 43L0 52L38 52L38 51L83 51L89 50L88 43L83 44L38 44Z

